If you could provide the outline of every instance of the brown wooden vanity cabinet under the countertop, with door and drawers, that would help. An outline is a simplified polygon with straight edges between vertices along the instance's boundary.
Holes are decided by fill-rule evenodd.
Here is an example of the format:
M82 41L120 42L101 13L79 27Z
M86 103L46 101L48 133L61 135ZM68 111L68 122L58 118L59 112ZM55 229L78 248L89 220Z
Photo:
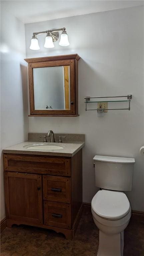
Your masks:
M73 157L4 154L7 226L32 225L72 239L82 211L82 149Z

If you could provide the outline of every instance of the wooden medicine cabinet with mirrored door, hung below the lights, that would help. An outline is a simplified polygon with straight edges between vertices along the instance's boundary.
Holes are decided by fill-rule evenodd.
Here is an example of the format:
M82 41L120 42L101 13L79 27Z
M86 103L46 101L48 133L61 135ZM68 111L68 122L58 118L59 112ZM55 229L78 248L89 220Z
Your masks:
M25 59L29 116L78 116L78 54Z

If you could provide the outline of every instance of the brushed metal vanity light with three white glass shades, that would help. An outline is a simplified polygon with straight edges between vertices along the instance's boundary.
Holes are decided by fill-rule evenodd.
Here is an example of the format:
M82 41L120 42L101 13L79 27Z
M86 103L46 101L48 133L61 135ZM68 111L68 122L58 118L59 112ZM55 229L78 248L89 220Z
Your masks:
M45 48L53 48L54 47L53 42L56 42L59 39L59 32L58 31L62 31L59 45L68 46L69 45L68 35L67 35L67 32L66 32L66 28L63 27L63 28L58 28L58 29L53 29L53 30L34 32L33 36L32 36L32 39L31 39L30 49L31 50L39 50L40 49L39 44L38 44L37 35L45 34L45 33L47 35L46 35L46 38L45 38L44 47Z

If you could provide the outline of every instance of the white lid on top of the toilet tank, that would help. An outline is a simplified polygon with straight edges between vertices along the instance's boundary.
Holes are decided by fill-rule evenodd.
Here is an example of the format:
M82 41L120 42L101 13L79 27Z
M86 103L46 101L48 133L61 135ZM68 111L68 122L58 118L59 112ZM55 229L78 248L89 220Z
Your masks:
M134 158L117 157L117 156L94 156L94 161L117 163L117 164L133 164L135 163Z

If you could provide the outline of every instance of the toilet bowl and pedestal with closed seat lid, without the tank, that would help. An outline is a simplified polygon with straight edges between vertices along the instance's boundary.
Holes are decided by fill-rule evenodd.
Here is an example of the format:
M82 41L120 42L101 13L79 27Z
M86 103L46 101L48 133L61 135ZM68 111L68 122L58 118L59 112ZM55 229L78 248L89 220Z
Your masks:
M124 229L131 217L131 207L123 192L100 190L93 197L91 211L99 228L97 256L122 256Z

